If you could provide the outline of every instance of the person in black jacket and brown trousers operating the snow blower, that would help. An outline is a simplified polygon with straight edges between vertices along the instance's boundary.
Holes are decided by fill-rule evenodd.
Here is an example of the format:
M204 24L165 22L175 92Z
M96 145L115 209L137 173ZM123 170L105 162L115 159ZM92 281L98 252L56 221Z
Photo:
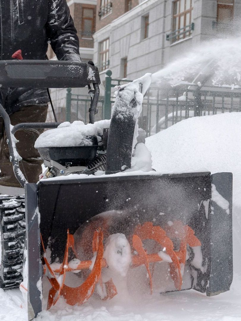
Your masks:
M48 59L51 44L58 60L81 61L79 40L66 0L0 0L0 59L12 59L22 50L23 59ZM48 109L46 89L1 88L0 102L10 115L12 125L45 122ZM29 182L37 182L41 169L34 142L41 130L20 130L15 134L22 156L20 169ZM0 194L24 194L9 160L4 123L0 119Z

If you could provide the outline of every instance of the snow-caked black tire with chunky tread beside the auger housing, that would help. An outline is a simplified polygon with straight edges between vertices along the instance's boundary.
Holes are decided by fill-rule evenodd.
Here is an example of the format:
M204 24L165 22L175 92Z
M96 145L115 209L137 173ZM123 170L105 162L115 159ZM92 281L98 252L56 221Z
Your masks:
M22 282L25 238L24 196L0 195L0 231L2 241L0 287L17 288Z

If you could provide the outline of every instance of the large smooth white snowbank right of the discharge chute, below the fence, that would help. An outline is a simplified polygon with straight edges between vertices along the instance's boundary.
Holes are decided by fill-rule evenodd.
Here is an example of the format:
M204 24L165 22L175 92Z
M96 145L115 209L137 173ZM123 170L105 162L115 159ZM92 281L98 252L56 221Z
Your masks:
M233 197L241 206L240 126L236 112L182 120L146 139L153 168L161 173L232 172Z

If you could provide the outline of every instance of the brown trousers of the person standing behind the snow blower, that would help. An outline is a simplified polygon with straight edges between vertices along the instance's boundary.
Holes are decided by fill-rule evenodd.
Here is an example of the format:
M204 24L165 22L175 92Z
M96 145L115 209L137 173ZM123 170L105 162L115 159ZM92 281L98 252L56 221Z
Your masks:
M11 124L19 123L44 123L48 113L48 105L24 106L10 116ZM16 147L22 160L19 162L20 169L29 183L37 183L39 175L42 173L42 160L34 143L44 129L21 129L15 133L15 138L19 140ZM0 123L0 133L2 133L0 150L0 193L8 195L19 195L23 191L13 172L13 164L9 160L9 150L3 120ZM21 190L19 190L21 188ZM12 193L11 193L12 191ZM14 192L15 191L15 192ZM3 192L3 193L2 193Z

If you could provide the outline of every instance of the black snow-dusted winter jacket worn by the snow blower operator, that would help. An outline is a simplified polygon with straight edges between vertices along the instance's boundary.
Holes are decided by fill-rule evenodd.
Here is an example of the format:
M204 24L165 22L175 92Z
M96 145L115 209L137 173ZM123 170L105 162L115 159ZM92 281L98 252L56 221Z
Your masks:
M0 59L47 59L48 42L58 60L81 61L79 40L66 0L0 0ZM48 102L46 90L2 88L9 113L22 105ZM2 100L1 99L1 100ZM4 101L2 101L4 103Z

